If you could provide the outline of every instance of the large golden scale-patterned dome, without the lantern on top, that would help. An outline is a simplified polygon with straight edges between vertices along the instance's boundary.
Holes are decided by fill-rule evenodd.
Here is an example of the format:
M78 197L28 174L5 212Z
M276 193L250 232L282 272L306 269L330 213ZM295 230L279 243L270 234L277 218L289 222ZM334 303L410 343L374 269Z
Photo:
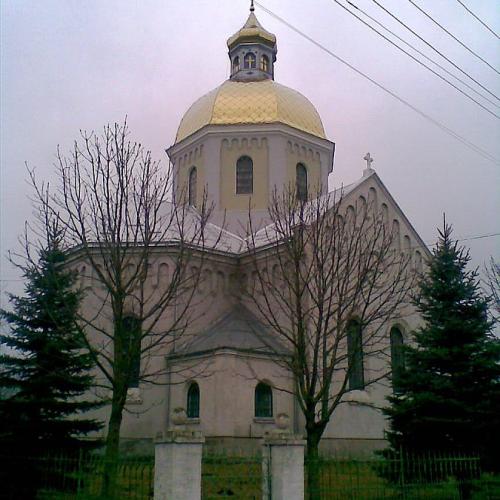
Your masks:
M175 142L206 125L283 123L325 139L321 118L302 94L274 80L227 80L198 99L181 120Z

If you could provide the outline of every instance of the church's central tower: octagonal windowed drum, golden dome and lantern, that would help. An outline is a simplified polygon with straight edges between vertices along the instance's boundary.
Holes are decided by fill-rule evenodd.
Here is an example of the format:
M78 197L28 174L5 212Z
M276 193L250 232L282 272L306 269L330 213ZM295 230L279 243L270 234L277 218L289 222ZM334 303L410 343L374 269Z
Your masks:
M191 105L167 152L176 200L197 208L206 195L215 222L243 234L249 207L254 227L268 220L276 189L326 191L334 144L312 103L275 81L276 37L253 5L227 46L229 78Z

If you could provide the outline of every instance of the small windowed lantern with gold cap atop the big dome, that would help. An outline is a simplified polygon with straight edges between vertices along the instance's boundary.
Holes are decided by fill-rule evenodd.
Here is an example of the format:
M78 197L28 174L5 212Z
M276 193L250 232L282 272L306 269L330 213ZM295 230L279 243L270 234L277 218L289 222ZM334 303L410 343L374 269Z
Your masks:
M274 80L276 36L262 27L254 11L252 0L246 23L227 41L231 60L231 80Z

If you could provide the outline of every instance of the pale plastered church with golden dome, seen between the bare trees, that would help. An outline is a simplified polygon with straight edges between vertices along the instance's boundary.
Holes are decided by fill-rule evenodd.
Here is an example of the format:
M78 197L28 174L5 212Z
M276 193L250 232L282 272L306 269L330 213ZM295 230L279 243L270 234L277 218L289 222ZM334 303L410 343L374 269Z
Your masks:
M222 243L217 252L207 251L205 279L196 292L200 314L190 325L190 341L152 361L162 373L157 384L138 383L129 390L122 438L131 443L151 443L158 431L172 425L179 408L186 411L190 428L221 446L257 446L280 414L289 417L293 432L304 431L293 376L276 362L277 353L286 355L287 347L278 340L270 346L274 340L263 342L256 334L261 320L241 291L253 265L247 232L249 217L254 231L270 223L269 203L276 190L291 187L299 198L326 195L335 144L326 137L314 106L275 82L276 37L260 25L253 9L229 38L228 49L230 78L187 110L167 150L174 169L174 203L189 205L196 217L208 202L213 207L211 231L220 231ZM370 156L366 159L363 176L344 188L343 203L368 200L383 211L397 235L396 246L411 254L411 265L421 270L425 245L371 169ZM154 257L152 288L168 273L168 256L160 247ZM98 307L94 300L87 299L85 307ZM409 308L385 325L387 352L391 341L405 342L419 322ZM390 354L364 359L364 378L380 373L384 363L389 372ZM346 392L322 446L349 455L383 446L386 422L379 408L391 391L388 377ZM104 419L107 411L102 409Z

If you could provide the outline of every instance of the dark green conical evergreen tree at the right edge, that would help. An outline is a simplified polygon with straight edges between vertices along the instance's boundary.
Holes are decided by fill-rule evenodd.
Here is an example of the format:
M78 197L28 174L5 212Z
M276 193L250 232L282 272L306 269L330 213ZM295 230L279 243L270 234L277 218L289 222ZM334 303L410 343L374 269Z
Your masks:
M388 439L396 453L480 453L500 449L500 342L468 251L444 224L415 305L424 326L405 348L398 393L389 398Z

